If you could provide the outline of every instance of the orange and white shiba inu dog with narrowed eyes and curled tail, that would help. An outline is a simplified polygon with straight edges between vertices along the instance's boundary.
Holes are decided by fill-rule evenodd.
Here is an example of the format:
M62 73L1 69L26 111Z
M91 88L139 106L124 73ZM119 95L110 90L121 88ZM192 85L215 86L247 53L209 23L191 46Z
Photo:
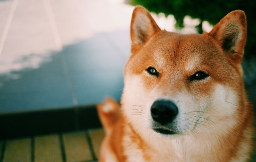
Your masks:
M252 151L253 112L243 83L243 11L210 33L161 30L137 6L132 55L119 105L98 105L106 132L100 162L244 162Z

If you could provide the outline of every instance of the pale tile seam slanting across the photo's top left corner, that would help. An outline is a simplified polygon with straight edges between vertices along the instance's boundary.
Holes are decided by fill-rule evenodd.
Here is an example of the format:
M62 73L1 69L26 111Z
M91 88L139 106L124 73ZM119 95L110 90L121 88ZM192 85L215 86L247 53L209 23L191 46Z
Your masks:
M10 9L8 17L6 19L6 23L5 23L5 26L4 26L4 31L3 31L3 34L2 34L2 37L1 37L1 40L0 40L0 57L2 55L4 44L5 44L7 35L9 33L9 29L10 29L10 26L12 24L12 19L13 19L13 16L14 16L14 13L16 11L18 3L19 3L19 0L14 0L12 2L11 9Z

